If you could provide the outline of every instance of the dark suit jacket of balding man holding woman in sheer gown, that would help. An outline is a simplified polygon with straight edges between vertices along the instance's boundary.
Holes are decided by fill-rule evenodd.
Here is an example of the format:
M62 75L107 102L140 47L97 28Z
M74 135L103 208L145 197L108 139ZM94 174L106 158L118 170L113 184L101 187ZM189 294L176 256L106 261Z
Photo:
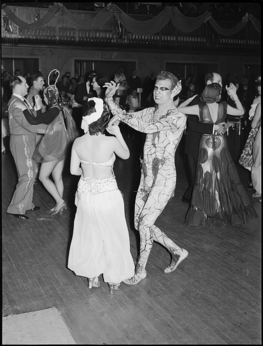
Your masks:
M200 102L201 94L197 95L188 106L194 106ZM213 134L213 124L202 123L198 115L189 115L187 117L187 131L185 137L184 152L187 155L197 157L199 151L199 143L202 134Z

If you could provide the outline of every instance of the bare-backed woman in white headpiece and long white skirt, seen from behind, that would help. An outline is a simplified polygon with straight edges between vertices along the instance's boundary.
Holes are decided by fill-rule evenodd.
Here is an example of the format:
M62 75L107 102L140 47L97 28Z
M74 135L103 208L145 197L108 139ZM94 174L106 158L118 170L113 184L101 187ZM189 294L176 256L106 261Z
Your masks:
M113 173L115 153L129 157L129 149L117 125L115 136L105 136L110 113L103 100L92 98L84 108L82 129L72 147L70 172L81 175L75 195L77 206L68 268L85 276L89 288L100 286L99 275L108 282L110 293L134 275L124 202ZM81 167L80 167L81 164Z

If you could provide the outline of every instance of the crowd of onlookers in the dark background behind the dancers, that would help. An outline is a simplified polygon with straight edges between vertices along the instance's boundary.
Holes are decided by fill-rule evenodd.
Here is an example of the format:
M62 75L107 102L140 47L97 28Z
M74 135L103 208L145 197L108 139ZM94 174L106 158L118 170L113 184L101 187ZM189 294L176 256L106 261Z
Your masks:
M15 75L22 75L19 69L15 70ZM81 103L84 97L87 95L93 94L96 95L96 91L92 85L93 76L101 75L99 71L87 71L83 76L75 74L73 75L70 71L65 72L60 81L57 83L57 88L60 92L60 97L62 102L70 104L70 98L72 95L76 102ZM36 72L27 73L24 77L27 80L27 84L29 88L33 86L33 82L36 78L43 76L41 72L38 72L36 76ZM176 77L181 80L182 91L180 93L181 99L186 99L192 97L200 93L202 90L202 85L198 85L198 77L197 75L193 75L192 73L188 74L186 78L180 76L180 74L176 75ZM2 72L1 83L3 87L3 102L8 102L11 98L12 92L10 89L10 78L11 74L8 71ZM44 78L44 87L47 86L46 77ZM125 71L120 67L115 73L111 73L108 76L104 76L105 80L114 80L115 82L120 83L118 90L118 99L120 105L129 110L130 107L134 110L141 107L151 107L154 106L153 100L153 86L156 81L156 73L152 72L150 76L146 76L144 80L142 80L138 75L137 71L133 71L132 76L126 76ZM53 84L56 80L55 74L51 76L51 84ZM256 92L256 81L251 78L248 78L246 75L244 76L232 76L228 73L223 79L223 90L222 90L222 98L227 101L227 93L225 92L225 86L229 86L230 83L233 83L237 88L238 98L241 100L241 103L246 111L246 117L248 117L248 111L250 109L250 105L253 102ZM85 88L86 86L86 88ZM138 89L140 90L140 94L138 93ZM43 90L40 90L40 94L43 93ZM136 98L136 101L135 101ZM139 102L140 101L140 102ZM64 104L65 104L64 103ZM131 105L132 103L132 105Z

